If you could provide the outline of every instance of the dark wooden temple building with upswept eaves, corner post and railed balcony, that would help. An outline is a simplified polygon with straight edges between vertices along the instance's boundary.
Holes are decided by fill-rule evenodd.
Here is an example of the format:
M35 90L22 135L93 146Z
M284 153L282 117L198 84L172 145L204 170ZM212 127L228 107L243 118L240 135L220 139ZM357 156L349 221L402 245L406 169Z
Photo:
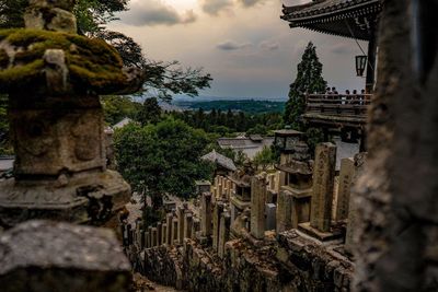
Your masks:
M343 140L361 139L365 148L367 107L376 83L378 24L382 0L313 0L309 3L283 8L281 19L290 27L302 27L356 40L368 42L364 69L366 94L307 96L306 122L321 127L325 132L341 130ZM365 60L365 59L362 59ZM354 61L354 60L351 60Z

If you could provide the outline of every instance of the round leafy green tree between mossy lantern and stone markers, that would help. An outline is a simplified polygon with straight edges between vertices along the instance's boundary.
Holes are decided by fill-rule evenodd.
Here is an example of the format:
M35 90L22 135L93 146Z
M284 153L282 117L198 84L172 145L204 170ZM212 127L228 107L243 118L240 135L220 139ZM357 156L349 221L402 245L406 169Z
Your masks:
M208 142L203 130L172 118L146 127L130 124L115 132L118 171L158 210L164 194L189 198L195 180L211 178L212 165L200 160Z

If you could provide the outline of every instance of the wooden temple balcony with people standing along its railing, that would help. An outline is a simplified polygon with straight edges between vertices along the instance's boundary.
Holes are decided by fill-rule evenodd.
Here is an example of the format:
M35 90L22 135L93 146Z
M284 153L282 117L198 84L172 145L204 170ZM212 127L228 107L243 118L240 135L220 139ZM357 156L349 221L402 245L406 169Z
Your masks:
M325 127L362 128L367 122L371 94L309 94L306 96L306 122Z

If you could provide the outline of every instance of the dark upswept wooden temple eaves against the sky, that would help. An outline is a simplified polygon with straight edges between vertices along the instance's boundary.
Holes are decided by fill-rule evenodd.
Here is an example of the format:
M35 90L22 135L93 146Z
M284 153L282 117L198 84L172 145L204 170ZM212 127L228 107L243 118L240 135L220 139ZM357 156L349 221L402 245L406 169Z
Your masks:
M382 0L314 0L284 5L281 19L290 27L369 40L381 10Z

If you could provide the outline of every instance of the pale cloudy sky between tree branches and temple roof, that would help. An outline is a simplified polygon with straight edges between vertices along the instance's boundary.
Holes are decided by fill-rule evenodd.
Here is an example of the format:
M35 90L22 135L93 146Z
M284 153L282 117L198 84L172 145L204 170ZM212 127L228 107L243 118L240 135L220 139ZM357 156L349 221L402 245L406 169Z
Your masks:
M310 40L331 85L364 87L355 77L354 56L361 54L353 39L291 30L279 19L281 3L307 1L130 0L108 28L131 36L150 59L204 67L215 80L201 95L285 98Z

